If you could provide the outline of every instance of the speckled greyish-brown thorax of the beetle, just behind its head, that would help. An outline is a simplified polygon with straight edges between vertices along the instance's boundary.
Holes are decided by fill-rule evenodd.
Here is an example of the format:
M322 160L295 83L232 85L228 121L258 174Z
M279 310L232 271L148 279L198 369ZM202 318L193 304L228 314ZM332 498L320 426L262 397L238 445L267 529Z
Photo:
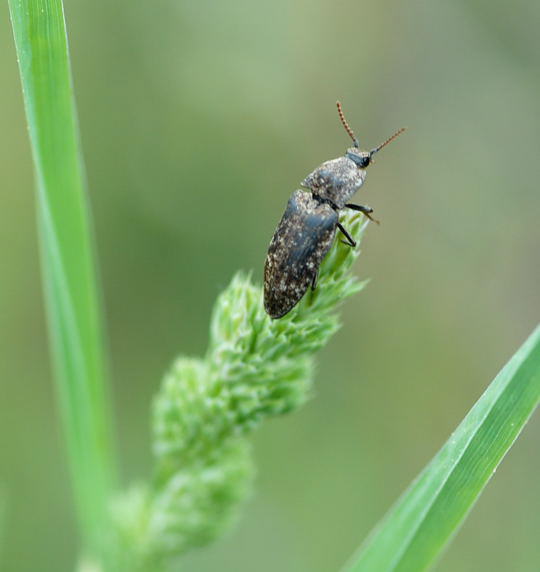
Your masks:
M338 209L345 206L366 178L366 170L358 167L349 151L352 150L345 157L325 161L302 181L302 186L331 201ZM358 149L354 151L361 153Z

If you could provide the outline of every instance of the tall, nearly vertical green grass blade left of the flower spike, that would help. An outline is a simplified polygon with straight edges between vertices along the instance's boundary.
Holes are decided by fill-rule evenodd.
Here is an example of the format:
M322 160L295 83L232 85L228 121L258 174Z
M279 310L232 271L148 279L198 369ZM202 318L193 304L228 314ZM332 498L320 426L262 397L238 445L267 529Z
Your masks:
M103 550L114 482L89 211L61 0L9 0L37 178L59 409L85 552Z

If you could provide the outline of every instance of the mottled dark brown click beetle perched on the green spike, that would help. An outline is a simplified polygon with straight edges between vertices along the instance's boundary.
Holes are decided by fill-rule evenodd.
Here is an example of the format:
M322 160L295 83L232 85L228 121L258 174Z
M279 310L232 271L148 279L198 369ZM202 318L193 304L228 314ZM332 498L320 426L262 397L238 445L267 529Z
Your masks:
M362 151L339 101L337 109L353 146L344 156L325 161L302 181L301 186L306 190L297 189L291 195L268 248L264 265L264 308L274 319L290 312L309 286L315 289L319 266L338 229L345 237L342 242L356 246L339 222L340 210L349 208L361 212L378 223L371 217L371 207L348 201L363 185L373 155L403 133L405 128L396 131L371 151Z

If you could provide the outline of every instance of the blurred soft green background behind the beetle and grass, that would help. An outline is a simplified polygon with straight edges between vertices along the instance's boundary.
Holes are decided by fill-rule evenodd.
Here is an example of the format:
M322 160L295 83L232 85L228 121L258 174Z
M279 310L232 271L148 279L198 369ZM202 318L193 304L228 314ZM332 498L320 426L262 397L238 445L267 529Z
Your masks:
M356 202L369 287L319 358L316 398L257 432L256 493L186 570L333 571L538 321L540 4L67 2L107 310L122 475L148 409L205 350L218 292L260 281L289 194L402 125ZM75 522L39 275L33 173L0 16L0 482L4 567L71 570ZM538 570L538 416L436 569Z

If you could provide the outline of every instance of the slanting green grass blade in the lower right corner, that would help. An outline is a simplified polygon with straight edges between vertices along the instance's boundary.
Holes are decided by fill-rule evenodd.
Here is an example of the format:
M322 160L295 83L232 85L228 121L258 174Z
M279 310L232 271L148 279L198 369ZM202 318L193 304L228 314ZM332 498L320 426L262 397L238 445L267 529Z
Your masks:
M539 401L537 327L345 570L426 569L465 519Z

